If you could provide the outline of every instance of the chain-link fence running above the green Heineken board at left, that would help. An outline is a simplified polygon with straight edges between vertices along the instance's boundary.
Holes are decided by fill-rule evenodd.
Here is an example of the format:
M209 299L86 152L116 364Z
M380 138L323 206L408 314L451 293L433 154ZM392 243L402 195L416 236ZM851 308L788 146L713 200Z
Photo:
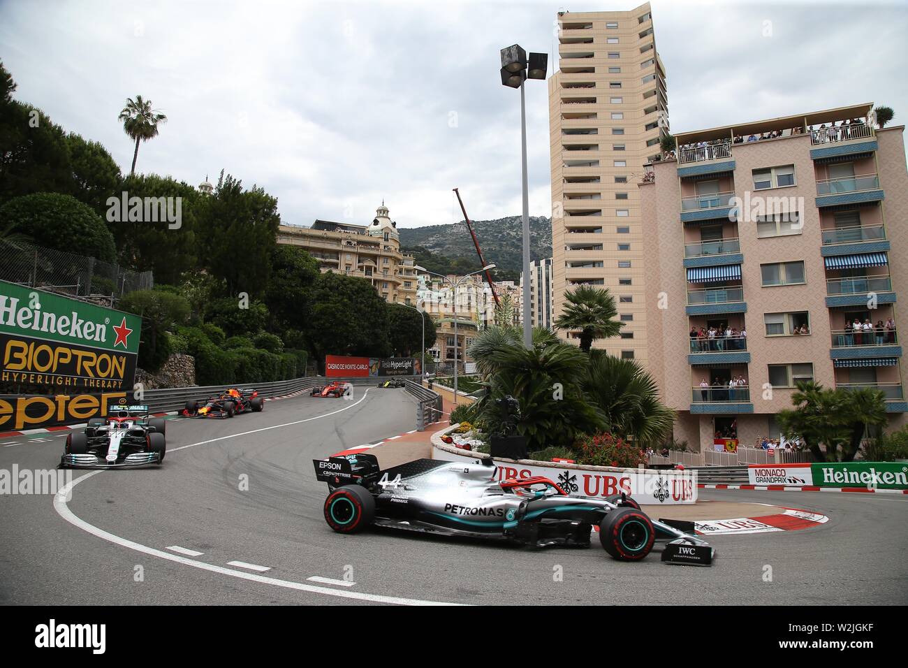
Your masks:
M152 272L131 272L94 257L0 239L0 280L114 306L133 290L151 290Z

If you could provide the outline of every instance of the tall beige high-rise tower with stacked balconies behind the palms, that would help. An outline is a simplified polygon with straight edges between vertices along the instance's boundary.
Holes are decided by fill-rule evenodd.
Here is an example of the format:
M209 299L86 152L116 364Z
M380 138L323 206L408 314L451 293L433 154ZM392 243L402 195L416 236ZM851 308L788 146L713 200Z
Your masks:
M559 12L558 56L558 72L548 79L552 316L561 313L567 290L608 288L625 326L620 338L594 345L646 364L637 184L668 131L666 70L649 4L629 12Z

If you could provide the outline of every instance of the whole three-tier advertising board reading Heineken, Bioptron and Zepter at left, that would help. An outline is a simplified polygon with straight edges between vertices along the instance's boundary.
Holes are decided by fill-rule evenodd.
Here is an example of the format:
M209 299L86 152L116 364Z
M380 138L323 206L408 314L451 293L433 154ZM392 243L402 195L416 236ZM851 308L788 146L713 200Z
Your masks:
M104 415L133 392L141 329L138 315L0 281L0 431Z

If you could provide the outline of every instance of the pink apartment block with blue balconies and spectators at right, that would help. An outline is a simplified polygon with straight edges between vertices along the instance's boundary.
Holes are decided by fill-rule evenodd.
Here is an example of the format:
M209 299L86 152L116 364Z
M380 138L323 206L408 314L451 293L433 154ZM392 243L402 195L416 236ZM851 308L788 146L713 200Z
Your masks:
M775 437L809 379L882 390L905 423L904 128L875 128L872 109L681 133L640 184L648 367L677 439Z

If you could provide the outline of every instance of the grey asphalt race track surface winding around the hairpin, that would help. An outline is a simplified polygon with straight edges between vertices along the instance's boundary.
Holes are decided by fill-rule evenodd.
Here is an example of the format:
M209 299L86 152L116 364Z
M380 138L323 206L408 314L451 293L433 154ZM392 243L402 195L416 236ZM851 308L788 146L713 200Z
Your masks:
M413 415L409 394L370 389L350 402L303 395L262 414L175 419L161 467L75 472L67 502L0 495L0 603L908 603L903 495L700 490L830 517L803 531L711 536L711 568L655 553L618 563L595 536L589 549L540 551L331 532L311 459L409 431ZM62 450L59 435L6 439L0 469L53 468Z

